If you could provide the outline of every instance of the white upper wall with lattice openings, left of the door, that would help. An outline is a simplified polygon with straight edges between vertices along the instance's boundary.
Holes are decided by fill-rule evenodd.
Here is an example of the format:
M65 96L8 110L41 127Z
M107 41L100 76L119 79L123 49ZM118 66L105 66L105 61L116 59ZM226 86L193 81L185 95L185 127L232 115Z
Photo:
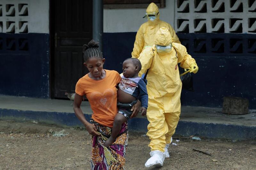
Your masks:
M6 8L8 4L12 5L10 9ZM27 5L19 9L19 4ZM3 13L0 16L2 33L23 33L25 29L28 33L49 33L49 0L1 0L0 10ZM28 16L21 16L26 10ZM10 14L14 16L8 16ZM9 21L14 23L10 25ZM21 25L21 21L25 23Z

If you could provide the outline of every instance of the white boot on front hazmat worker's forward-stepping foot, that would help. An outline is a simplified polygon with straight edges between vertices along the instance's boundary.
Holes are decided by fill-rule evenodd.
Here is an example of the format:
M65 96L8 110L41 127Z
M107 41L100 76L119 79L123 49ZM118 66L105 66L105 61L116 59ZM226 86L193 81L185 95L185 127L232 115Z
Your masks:
M164 164L164 159L165 159L165 154L164 152L161 151L151 151L150 153L151 158L147 160L145 163L146 167L150 166L163 166Z

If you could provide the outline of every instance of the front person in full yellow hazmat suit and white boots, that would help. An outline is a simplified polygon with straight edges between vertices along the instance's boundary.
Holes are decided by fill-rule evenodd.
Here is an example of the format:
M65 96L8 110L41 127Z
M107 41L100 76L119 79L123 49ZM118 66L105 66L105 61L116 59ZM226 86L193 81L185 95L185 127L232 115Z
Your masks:
M198 71L198 66L186 47L172 42L169 29L164 27L156 32L154 45L145 48L138 59L142 65L139 76L148 70L147 136L151 140L148 145L151 158L145 166L163 166L180 117L182 83L178 63L193 73Z

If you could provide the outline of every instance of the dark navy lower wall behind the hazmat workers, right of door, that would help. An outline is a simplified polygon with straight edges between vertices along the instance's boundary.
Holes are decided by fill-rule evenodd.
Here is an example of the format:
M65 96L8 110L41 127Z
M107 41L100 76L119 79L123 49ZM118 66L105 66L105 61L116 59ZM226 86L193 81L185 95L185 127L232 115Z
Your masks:
M248 98L250 109L256 109L256 34L177 34L199 66L198 73L193 74L195 92L183 90L182 105L222 107L224 96L236 96ZM106 69L122 72L123 61L131 57L135 36L136 32L103 33ZM235 53L241 47L242 53ZM222 49L223 53L216 52Z

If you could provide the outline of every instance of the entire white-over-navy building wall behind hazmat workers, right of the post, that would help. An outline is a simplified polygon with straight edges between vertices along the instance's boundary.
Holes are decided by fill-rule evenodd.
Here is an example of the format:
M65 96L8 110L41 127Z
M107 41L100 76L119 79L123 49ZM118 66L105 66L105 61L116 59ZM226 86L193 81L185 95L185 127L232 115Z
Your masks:
M104 9L105 68L122 71L145 10ZM182 105L222 107L224 96L236 96L256 108L256 1L166 0L159 12L199 66L195 92L182 91Z

